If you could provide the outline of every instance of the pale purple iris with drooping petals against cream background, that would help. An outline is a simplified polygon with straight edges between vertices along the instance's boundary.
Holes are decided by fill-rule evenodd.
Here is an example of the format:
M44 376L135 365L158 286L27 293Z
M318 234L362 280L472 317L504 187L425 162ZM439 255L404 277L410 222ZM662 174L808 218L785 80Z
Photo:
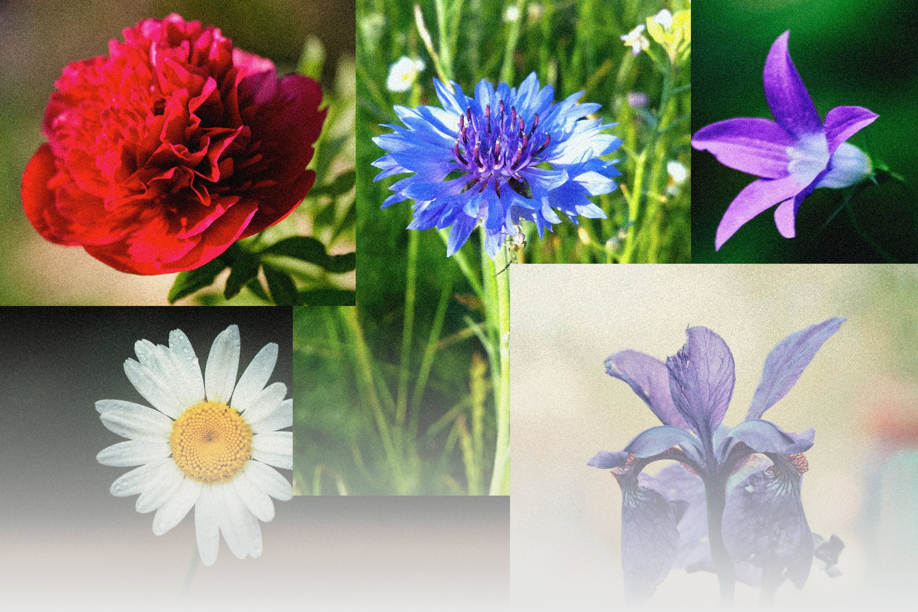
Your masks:
M816 351L845 322L801 329L768 353L745 420L722 423L733 396L733 354L708 328L666 363L637 351L606 360L663 426L638 434L623 451L599 451L588 465L610 469L621 487L621 565L632 599L653 595L674 568L718 574L724 600L740 580L799 588L810 573L813 538L800 503L804 451L815 432L791 433L762 419L797 383ZM655 476L651 462L675 460Z

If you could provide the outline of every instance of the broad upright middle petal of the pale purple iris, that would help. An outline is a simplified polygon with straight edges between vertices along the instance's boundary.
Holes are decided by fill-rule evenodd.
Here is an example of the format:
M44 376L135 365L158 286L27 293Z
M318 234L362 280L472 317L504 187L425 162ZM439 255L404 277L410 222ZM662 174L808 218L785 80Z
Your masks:
M703 439L711 437L733 397L733 354L709 328L686 331L689 341L666 359L669 392L682 418Z

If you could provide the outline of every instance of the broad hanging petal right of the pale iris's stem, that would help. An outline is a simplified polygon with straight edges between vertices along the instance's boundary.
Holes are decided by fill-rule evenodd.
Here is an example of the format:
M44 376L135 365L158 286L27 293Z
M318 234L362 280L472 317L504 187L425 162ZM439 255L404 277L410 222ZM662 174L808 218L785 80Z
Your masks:
M813 542L800 503L799 465L778 455L775 464L737 484L723 511L723 545L735 562L773 572L788 569L802 588L810 574Z

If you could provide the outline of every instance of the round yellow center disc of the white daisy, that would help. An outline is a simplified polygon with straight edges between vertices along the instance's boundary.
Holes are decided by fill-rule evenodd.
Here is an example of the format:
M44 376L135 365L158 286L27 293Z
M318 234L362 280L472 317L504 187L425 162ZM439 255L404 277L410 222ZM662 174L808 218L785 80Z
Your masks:
M252 428L226 404L201 402L175 419L169 446L188 478L225 483L252 459Z

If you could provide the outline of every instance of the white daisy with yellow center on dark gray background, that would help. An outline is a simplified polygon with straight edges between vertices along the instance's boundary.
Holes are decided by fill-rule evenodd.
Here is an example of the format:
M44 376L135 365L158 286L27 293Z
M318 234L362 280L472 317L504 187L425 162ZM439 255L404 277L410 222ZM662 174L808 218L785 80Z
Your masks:
M277 362L267 344L236 383L239 327L230 325L201 366L185 333L175 329L169 346L139 340L140 362L124 371L153 408L117 399L95 403L106 428L129 438L101 451L103 465L140 465L111 486L112 495L140 494L137 511L156 510L153 533L161 536L195 508L197 551L205 565L217 561L219 534L240 559L262 554L258 520L274 518L274 499L293 497L274 467L293 467L293 424L286 385L264 386Z

